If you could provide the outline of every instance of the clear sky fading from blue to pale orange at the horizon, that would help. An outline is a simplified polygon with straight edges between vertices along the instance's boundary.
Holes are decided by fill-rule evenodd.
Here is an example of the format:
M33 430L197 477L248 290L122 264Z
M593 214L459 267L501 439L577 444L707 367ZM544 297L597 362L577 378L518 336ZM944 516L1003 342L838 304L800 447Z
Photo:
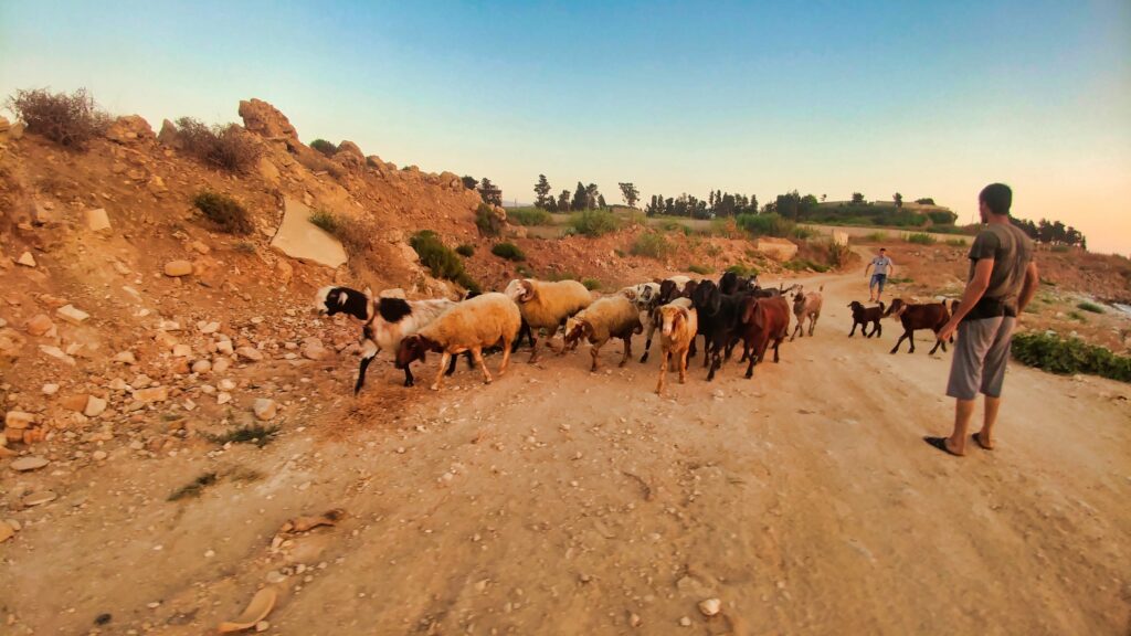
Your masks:
M1131 2L0 0L0 95L85 87L154 128L283 111L507 201L618 183L932 197L1131 253Z

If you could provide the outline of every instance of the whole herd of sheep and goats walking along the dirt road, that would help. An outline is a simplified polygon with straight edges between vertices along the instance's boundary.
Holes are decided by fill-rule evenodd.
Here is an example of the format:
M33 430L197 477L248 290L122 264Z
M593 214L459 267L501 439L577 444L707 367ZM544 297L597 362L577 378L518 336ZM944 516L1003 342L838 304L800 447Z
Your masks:
M703 367L709 368L707 380L715 378L740 344L740 362L746 362L746 378L753 376L754 366L763 360L771 345L777 362L782 342L787 336L791 341L804 336L806 320L808 335L813 335L821 315L822 291L823 286L817 291L805 291L801 285L761 287L756 277L745 278L727 272L717 282L672 276L595 299L577 281L519 278L511 281L501 293L469 294L459 302L373 296L369 290L326 286L318 291L316 308L330 316L347 313L363 325L355 395L365 383L370 362L381 350L394 354L396 368L405 372L406 387L414 384L412 363L424 361L428 352L439 353L439 372L432 384L432 389L437 390L444 375L455 371L455 356L459 354L467 358L469 368L478 366L482 369L487 384L492 377L483 354L489 350L502 352L498 371L502 375L525 336L530 347L530 362L536 362L537 336L543 329L551 340L559 329L564 329L559 355L576 350L582 340L587 341L593 358L592 371L599 368L601 347L612 338L623 342L620 361L623 367L632 356L632 336L637 334L646 334L640 362L647 362L653 337L658 330L663 358L656 393L663 395L671 367L679 371L681 384L687 381L688 359L698 353L696 341L700 335L703 336ZM786 300L791 294L792 303ZM896 299L888 308L882 302L879 307L865 307L857 301L848 308L853 315L849 337L858 326L865 337L880 336L881 319L896 316L903 324L904 334L891 353L899 350L904 340L910 341L910 353L914 353L914 332L931 329L938 334L949 320L953 306L942 302L916 304ZM792 320L796 324L791 335ZM940 341L931 353L940 345L947 351L947 345Z

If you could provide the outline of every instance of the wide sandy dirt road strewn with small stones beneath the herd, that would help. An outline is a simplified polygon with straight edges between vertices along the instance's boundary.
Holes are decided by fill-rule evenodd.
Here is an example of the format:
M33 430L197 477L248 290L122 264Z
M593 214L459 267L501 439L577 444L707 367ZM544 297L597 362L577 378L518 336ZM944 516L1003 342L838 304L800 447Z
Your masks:
M5 633L210 633L271 584L269 633L311 636L1128 634L1131 388L1015 366L998 449L942 455L949 354L847 338L865 280L818 280L817 336L753 380L662 399L610 346L440 395L385 364L354 402L351 360L262 449L112 457L0 545Z

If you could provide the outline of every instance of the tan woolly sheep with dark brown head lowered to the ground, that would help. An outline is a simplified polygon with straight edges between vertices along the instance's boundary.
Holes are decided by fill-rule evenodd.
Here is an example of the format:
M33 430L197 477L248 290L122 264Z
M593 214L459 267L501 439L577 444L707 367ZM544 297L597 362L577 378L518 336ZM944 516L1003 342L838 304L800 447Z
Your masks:
M439 352L440 372L432 383L432 390L440 390L451 356L469 351L475 362L483 369L484 381L491 384L491 372L483 362L483 350L495 345L502 346L499 375L503 375L510 362L510 344L518 336L521 324L523 317L518 307L504 294L485 293L465 300L420 332L400 341L397 368L407 368L416 360L424 360L424 354L429 351Z

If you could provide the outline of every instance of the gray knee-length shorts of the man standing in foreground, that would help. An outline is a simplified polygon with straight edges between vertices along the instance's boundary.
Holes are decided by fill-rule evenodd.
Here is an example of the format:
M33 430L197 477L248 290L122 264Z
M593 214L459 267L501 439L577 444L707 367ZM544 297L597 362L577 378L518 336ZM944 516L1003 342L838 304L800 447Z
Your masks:
M1017 318L1002 316L964 320L958 325L947 395L974 399L981 390L990 397L1001 397L1016 321Z

